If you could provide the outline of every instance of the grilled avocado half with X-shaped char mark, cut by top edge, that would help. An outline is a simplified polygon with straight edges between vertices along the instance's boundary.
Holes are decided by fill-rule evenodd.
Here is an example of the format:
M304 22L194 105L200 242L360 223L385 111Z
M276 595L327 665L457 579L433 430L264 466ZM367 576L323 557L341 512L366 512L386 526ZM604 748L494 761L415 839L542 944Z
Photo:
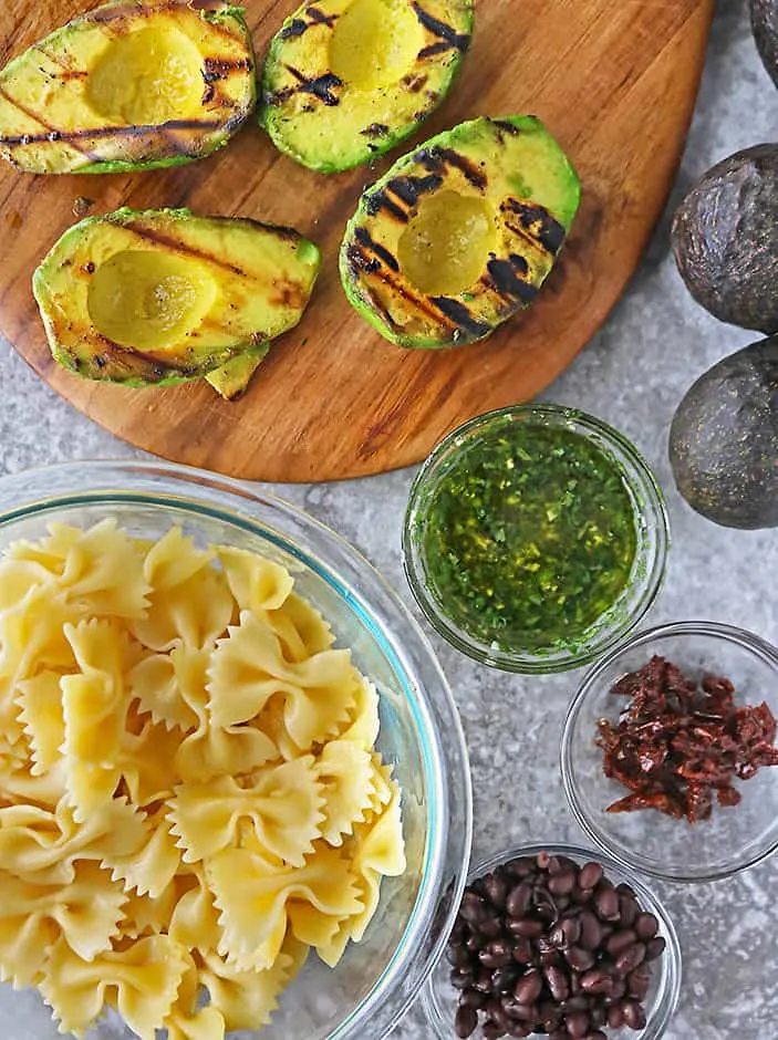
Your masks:
M320 0L274 37L260 123L320 173L351 169L408 137L450 89L473 0Z

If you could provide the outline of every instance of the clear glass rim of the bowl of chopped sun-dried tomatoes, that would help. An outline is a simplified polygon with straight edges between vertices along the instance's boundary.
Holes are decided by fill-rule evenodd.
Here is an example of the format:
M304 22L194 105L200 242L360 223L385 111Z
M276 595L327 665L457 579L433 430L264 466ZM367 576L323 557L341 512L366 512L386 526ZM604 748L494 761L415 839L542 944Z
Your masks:
M677 882L681 884L704 884L713 881L722 881L727 877L734 877L743 871L764 863L776 851L778 851L778 833L770 844L754 855L741 859L735 865L729 867L719 867L716 870L695 871L694 873L672 870L660 870L653 865L652 861L644 860L639 852L632 847L622 847L611 841L606 832L593 822L590 814L582 805L579 798L573 769L573 746L575 740L577 724L590 694L598 689L598 684L605 673L621 656L639 646L647 646L655 639L672 636L703 636L705 638L716 638L723 643L730 643L747 651L754 657L759 658L764 664L774 668L778 673L778 647L772 646L763 636L747 628L740 628L737 625L728 625L717 621L676 621L667 624L654 625L652 628L644 628L634 633L626 642L621 643L606 654L593 668L583 677L575 696L570 701L564 725L562 728L562 740L560 750L560 763L562 772L562 786L568 801L568 805L575 822L584 832L587 838L594 843L598 850L605 855L610 855L616 862L623 862L625 866L634 871L640 871L651 877L660 881Z

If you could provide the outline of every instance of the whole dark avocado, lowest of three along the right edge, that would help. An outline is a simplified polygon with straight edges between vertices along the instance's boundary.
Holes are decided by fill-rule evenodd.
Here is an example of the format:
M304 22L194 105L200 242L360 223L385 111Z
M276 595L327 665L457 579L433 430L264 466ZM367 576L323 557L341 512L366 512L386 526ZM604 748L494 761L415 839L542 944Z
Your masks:
M689 506L723 527L778 527L778 336L701 376L673 418L670 461Z

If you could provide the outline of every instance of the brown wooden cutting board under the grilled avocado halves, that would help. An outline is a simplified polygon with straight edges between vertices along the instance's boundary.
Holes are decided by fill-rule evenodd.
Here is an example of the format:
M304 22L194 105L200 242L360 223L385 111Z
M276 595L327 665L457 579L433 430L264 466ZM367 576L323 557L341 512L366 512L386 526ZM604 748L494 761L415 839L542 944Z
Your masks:
M297 2L243 2L261 61ZM96 4L3 0L0 62L85 6ZM484 344L403 351L345 301L336 257L346 218L397 153L376 169L326 177L279 155L253 122L218 156L166 171L30 177L0 164L0 332L76 408L168 459L273 481L356 477L418 461L465 419L538 395L619 299L675 176L713 7L714 0L479 0L465 70L415 142L476 115L532 113L583 183L573 235L546 290ZM204 383L94 385L53 364L30 279L74 222L80 196L94 200L93 214L128 205L250 216L292 225L322 247L305 318L278 341L242 401L224 402ZM585 408L585 399L580 404Z

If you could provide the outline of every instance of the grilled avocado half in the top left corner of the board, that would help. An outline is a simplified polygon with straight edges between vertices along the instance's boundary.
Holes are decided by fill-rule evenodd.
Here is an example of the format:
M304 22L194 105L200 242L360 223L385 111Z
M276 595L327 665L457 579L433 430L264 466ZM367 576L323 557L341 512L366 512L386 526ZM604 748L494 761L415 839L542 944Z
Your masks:
M239 8L115 0L0 72L0 156L31 174L178 166L226 145L256 101Z

